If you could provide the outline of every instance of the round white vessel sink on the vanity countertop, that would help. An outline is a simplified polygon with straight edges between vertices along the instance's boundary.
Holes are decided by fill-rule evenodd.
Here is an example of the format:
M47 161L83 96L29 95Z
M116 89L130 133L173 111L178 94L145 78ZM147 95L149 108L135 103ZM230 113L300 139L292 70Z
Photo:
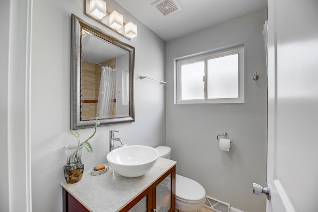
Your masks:
M156 163L159 151L150 146L131 145L116 148L107 154L110 167L125 177L146 174Z

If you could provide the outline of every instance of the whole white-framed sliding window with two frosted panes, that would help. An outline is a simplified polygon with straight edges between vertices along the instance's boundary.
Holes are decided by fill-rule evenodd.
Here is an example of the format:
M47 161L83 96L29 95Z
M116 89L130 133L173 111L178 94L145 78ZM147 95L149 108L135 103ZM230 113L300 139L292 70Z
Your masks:
M243 103L244 47L175 59L175 103Z

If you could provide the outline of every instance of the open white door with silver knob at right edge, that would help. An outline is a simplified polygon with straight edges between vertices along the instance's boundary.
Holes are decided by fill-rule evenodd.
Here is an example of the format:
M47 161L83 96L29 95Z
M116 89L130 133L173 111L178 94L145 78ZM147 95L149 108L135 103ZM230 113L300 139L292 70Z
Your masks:
M317 212L318 0L268 0L268 42L266 211Z

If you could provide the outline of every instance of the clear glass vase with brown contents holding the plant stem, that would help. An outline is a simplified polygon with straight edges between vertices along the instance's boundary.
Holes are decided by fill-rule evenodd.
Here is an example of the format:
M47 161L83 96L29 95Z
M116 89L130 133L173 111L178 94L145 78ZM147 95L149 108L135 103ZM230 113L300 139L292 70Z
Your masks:
M81 152L83 146L66 145L64 146L66 154L66 164L64 165L64 177L67 183L79 182L83 175L84 164L81 161Z

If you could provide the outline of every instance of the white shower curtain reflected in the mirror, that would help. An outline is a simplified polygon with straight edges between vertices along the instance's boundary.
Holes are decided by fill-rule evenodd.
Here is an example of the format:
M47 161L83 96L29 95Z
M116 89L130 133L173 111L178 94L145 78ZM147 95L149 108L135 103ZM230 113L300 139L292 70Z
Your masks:
M96 116L107 118L113 116L114 90L116 80L116 69L111 67L101 68L101 78L98 93ZM116 113L115 113L116 115Z

